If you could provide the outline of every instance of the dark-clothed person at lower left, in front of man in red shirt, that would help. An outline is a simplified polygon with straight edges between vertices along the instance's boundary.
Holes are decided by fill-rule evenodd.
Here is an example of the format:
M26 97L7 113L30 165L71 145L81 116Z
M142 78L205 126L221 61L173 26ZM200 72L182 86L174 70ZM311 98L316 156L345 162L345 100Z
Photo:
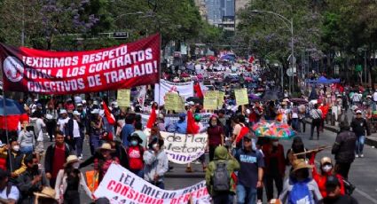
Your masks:
M28 154L24 163L27 170L17 178L17 185L20 190L20 204L33 203L35 192L41 192L43 187L50 186L46 175L38 167L38 160L35 155Z

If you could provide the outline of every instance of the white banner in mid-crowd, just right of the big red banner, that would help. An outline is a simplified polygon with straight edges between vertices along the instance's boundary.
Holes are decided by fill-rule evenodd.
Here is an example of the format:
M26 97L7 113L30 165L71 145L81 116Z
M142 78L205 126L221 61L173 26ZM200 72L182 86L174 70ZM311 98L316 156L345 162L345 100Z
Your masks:
M154 101L157 101L160 106L164 105L165 94L168 92L178 92L179 96L185 99L193 97L193 82L168 82L161 79L160 84L156 83L154 86Z

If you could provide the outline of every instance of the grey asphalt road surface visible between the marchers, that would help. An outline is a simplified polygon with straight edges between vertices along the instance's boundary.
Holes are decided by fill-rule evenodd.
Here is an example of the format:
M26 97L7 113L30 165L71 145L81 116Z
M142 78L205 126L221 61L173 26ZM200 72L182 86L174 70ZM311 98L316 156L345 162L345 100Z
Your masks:
M335 133L325 130L320 134L319 140L309 140L310 127L307 125L306 133L300 133L305 147L311 149L318 145L333 145L335 140ZM291 140L282 140L281 144L285 147L285 152L290 148ZM50 145L50 142L46 142ZM326 149L321 153L318 153L317 160L320 160L322 156L334 156L331 155L330 149ZM357 189L353 193L353 196L359 201L360 204L377 204L377 150L371 146L365 145L365 158L356 159L351 165L350 169L350 182L357 186ZM90 156L88 143L84 143L84 159ZM174 169L169 172L169 176L165 178L165 186L168 190L180 189L192 184L196 184L204 179L204 173L202 172L200 165L193 165L194 172L191 174L185 173L185 165L173 164ZM82 169L82 171L91 169L88 167ZM286 174L287 175L287 174ZM265 195L264 195L265 196ZM265 200L265 199L264 199ZM89 198L84 192L81 193L81 202L90 203Z

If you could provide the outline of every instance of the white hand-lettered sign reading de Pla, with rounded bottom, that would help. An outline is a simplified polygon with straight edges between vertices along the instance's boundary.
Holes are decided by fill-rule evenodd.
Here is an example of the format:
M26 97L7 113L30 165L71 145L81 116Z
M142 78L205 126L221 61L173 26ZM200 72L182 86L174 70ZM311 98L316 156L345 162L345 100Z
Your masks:
M178 164L191 163L204 153L208 135L203 134L179 134L161 131L164 139L165 153L169 161Z

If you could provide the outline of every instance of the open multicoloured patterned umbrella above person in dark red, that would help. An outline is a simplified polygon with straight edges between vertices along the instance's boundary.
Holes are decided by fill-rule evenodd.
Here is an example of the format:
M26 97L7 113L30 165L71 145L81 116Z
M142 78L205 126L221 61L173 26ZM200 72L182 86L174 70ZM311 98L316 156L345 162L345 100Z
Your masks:
M282 122L258 122L252 129L256 137L289 139L296 134L294 129Z

